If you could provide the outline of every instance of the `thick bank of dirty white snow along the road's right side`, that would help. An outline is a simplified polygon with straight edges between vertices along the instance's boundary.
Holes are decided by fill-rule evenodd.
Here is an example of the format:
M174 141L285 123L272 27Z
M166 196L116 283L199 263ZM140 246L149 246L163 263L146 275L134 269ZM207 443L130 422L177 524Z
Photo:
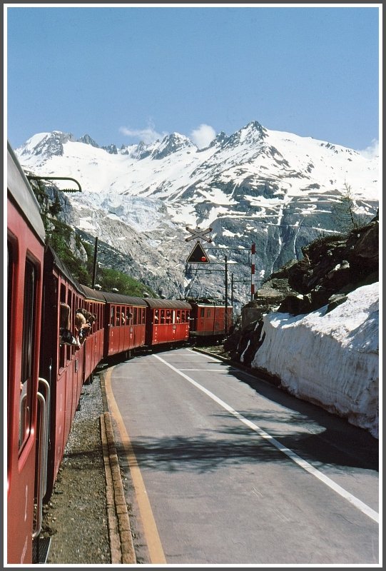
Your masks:
M289 393L378 438L379 283L357 288L326 313L269 313L253 368L278 375Z

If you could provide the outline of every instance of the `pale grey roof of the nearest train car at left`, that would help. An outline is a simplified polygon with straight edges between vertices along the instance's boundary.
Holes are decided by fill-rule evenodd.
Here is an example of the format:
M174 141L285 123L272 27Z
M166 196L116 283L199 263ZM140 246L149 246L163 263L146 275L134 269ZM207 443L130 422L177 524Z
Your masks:
M44 230L44 224L41 220L39 202L36 200L34 191L9 141L7 141L6 186L11 197L16 202L16 205L20 211L24 213L25 218L29 221L36 235L44 243L46 240L46 231Z

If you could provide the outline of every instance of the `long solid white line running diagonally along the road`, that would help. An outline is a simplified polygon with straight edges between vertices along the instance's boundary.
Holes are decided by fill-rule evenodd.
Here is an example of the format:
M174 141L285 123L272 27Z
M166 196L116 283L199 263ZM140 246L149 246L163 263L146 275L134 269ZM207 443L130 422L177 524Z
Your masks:
M300 466L300 468L303 468L303 470L306 470L306 472L317 477L318 480L320 480L325 485L330 487L331 490L334 490L334 492L337 492L337 494L344 497L345 500L347 500L347 502L350 502L352 505L357 507L358 510L363 512L368 517L371 517L371 519L374 520L375 522L379 523L380 516L377 512L375 512L375 510L372 510L371 507L366 505L364 502L359 500L354 495L350 494L350 492L347 492L347 490L345 490L339 484L337 484L336 482L331 480L325 474L322 474L317 468L314 468L313 465L308 463L307 460L303 460L303 458L300 458L300 456L298 456L298 454L293 452L293 450L290 450L289 448L286 448L285 446L280 444L280 442L278 440L276 440L275 438L273 438L273 436L269 435L268 433L265 432L265 430L263 430L262 428L259 428L258 425L256 425L255 423L252 423L250 420L248 420L248 418L245 418L245 416L238 413L237 410L235 410L230 405L225 403L223 400L218 398L215 394L211 393L210 390L203 387L203 385L200 385L200 383L197 383L197 381L195 381L194 379L192 379L191 377L189 377L185 373L182 373L181 370L176 369L176 367L173 367L173 365L171 365L170 363L168 363L166 360L159 357L158 355L153 354L152 356L154 358L160 360L162 363L165 363L165 365L167 367L171 368L173 371L175 371L175 373L178 373L178 375L181 375L181 377L188 380L189 383L191 383L192 385L194 385L198 389L202 390L202 392L205 393L205 395L208 395L208 397L210 397L212 400L214 400L215 403L218 403L218 405L225 408L225 410L228 410L228 413L235 416L235 418L238 418L238 420L240 420L242 423L244 423L246 426L248 426L248 428L253 430L255 433L258 433L258 435L260 435L261 438L265 438L265 440L268 440L268 442L270 442L270 444L272 444L273 446L275 446L275 448L280 450L280 452L282 452L283 454L288 456L288 458L290 458L290 460L293 460L293 462L295 462L295 464L298 464ZM207 355L205 355L205 357L206 356ZM215 360L215 359L213 359L213 360Z

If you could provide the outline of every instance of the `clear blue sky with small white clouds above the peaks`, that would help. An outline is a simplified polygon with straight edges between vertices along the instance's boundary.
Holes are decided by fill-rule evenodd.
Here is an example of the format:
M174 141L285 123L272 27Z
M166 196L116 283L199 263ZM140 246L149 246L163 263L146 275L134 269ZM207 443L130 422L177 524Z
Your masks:
M357 150L380 137L381 4L5 6L14 148L54 130L203 146L250 121Z

